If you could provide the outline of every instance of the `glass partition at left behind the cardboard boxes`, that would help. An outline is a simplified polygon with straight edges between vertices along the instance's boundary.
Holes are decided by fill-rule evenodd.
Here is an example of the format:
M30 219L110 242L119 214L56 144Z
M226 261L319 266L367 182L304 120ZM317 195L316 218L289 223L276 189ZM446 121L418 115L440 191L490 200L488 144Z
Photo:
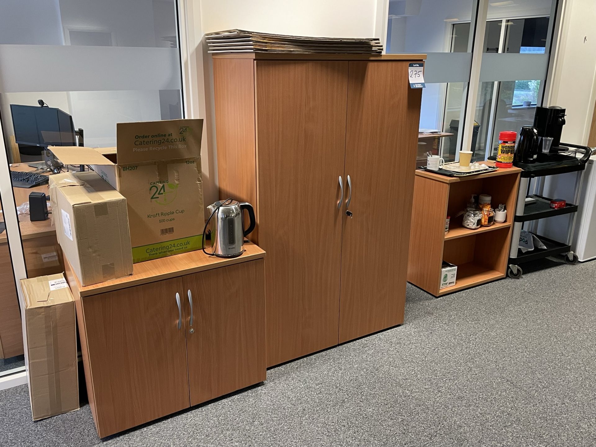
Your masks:
M0 10L1 379L24 364L15 277L64 271L51 209L45 221L28 209L47 180L24 188L17 177L50 175L39 163L57 129L61 145L111 147L116 123L181 118L184 104L177 1L0 0Z

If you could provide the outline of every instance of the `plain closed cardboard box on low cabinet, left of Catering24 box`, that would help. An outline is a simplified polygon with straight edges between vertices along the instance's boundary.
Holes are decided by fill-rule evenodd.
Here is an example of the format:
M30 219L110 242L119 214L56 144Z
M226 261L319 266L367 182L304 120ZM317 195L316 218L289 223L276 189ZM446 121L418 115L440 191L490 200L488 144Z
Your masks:
M132 275L126 199L95 172L49 176L58 243L82 285Z

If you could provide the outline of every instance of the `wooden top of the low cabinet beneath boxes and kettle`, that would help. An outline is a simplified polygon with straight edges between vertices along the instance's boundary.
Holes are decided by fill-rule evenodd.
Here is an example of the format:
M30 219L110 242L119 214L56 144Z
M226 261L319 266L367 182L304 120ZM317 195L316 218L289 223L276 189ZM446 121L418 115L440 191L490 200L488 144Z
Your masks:
M175 254L174 256L136 263L133 265L132 275L117 280L105 281L104 283L83 287L80 285L79 278L75 277L76 287L80 296L90 296L265 257L265 252L253 243L244 244L244 250L241 256L228 258L207 256L202 250Z

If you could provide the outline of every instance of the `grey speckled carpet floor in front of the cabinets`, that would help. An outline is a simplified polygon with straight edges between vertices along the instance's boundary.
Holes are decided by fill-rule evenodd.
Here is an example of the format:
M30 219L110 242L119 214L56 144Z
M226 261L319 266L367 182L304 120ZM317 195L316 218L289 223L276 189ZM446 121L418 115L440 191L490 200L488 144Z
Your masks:
M262 386L109 437L89 406L33 423L0 392L2 446L594 446L596 262L434 299L405 324L268 371Z

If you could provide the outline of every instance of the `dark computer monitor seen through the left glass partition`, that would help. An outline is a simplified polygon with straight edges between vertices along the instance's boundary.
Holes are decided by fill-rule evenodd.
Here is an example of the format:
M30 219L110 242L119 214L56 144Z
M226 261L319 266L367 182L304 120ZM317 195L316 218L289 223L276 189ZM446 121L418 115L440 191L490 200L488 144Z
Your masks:
M76 146L72 116L54 107L11 104L15 141L19 145Z

